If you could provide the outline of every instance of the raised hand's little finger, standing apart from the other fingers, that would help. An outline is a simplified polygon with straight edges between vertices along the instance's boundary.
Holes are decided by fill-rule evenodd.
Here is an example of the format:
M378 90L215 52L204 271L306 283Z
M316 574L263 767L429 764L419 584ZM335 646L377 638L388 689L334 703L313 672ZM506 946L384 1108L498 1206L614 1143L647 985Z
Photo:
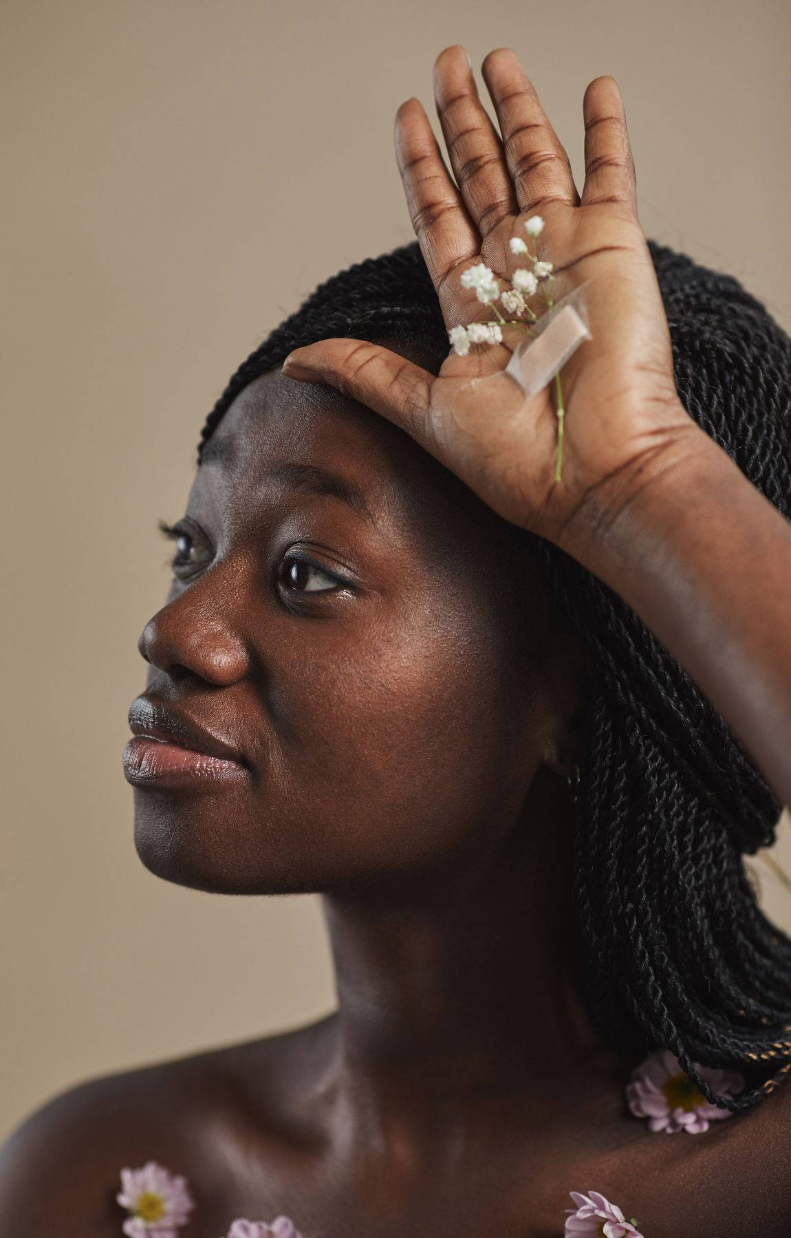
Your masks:
M638 213L638 181L626 131L626 110L615 78L594 78L582 100L586 124L583 207L624 202Z

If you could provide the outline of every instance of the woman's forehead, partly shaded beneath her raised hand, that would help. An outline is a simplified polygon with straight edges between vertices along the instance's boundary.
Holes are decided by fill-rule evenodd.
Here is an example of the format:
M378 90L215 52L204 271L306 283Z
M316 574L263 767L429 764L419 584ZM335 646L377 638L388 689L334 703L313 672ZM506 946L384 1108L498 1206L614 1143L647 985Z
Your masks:
M345 498L345 506L332 508L338 515L348 513L370 532L415 539L448 565L469 565L477 550L490 557L504 540L505 522L405 431L332 387L280 370L236 396L203 459L189 506L199 516L205 509L219 525L253 527L276 495L300 491L301 501L317 494ZM309 467L332 475L329 488ZM338 480L361 501L342 495Z

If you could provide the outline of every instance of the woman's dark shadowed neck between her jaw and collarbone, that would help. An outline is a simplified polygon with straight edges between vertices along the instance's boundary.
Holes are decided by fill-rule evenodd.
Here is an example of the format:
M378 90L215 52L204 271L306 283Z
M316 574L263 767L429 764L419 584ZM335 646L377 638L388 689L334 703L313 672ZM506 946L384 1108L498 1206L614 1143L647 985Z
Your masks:
M499 854L431 895L324 896L338 993L335 1063L366 1109L418 1119L525 1091L557 1102L618 1070L579 997L571 802L541 770Z

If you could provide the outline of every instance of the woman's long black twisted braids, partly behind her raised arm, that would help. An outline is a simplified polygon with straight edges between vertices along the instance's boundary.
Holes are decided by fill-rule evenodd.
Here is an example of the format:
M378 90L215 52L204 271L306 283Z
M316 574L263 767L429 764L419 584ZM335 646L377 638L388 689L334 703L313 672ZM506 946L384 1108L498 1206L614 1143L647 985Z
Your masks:
M678 395L693 420L791 515L791 339L729 275L649 240ZM239 366L235 396L286 355L345 335L448 354L417 244L322 284ZM791 940L760 911L741 854L775 838L781 803L672 655L608 586L532 534L552 597L593 673L574 799L574 906L586 1005L625 1052L670 1049L709 1103L748 1112L791 1071ZM739 1070L740 1096L697 1065Z

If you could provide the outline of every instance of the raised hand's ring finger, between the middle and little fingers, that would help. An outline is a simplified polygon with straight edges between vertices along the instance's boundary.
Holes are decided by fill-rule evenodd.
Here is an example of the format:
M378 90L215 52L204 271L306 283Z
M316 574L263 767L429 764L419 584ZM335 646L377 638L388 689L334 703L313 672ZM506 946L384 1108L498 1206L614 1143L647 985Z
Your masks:
M535 210L558 199L579 206L568 155L516 53L510 47L489 52L482 72L498 114L520 209Z

